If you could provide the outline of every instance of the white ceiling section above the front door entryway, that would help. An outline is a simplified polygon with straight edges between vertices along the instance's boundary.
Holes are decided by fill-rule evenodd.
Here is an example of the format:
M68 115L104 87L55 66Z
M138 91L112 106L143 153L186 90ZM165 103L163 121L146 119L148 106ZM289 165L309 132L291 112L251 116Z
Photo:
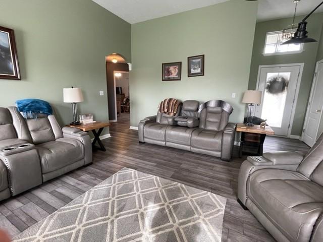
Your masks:
M301 0L297 4L297 16L310 13L322 0ZM257 21L293 17L295 4L293 0L259 0ZM323 12L323 6L315 13Z

